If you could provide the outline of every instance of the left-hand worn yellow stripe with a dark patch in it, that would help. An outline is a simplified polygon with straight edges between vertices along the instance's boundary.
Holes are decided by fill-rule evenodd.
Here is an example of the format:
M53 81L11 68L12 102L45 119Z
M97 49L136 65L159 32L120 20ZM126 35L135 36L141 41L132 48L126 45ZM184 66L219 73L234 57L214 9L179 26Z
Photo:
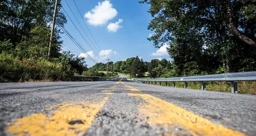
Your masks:
M9 123L6 131L13 135L83 135L93 123L95 116L107 102L84 102L82 104L58 104L47 108L51 116L38 113ZM76 121L74 125L70 121Z

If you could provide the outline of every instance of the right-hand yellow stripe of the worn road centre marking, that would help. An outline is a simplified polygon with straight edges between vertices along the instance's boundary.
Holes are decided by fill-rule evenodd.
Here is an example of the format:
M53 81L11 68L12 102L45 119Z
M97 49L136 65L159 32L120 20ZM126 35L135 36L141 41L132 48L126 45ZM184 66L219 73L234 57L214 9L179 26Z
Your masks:
M124 83L122 84L125 85ZM129 90L134 91L137 89L129 86ZM145 100L140 105L139 110L145 115L145 118L148 118L148 123L153 127L163 125L168 129L168 126L179 125L191 130L193 135L244 135L243 133L225 128L225 126L216 125L193 112L186 111L186 109L151 95L143 93L129 93L129 95Z

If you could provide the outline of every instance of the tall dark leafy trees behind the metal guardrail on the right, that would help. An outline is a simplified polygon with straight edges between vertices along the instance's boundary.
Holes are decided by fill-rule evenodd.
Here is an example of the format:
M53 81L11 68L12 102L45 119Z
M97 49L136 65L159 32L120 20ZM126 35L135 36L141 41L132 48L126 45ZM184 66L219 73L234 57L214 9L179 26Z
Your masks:
M145 0L148 40L170 44L178 76L256 70L255 0Z

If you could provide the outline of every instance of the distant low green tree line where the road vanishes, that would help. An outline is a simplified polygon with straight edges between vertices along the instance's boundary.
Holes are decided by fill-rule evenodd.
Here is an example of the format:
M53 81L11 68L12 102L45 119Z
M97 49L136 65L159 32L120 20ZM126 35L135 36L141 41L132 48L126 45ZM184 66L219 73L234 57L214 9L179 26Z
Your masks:
M150 78L167 78L172 76L172 63L166 59L153 59L150 62L144 62L142 58L140 59L137 56L115 63L109 62L109 65L113 66L114 72L130 74L132 77L136 77L136 75L138 78L144 76L149 76ZM98 63L89 69L93 71L106 71L107 67L108 64ZM109 68L108 71L111 71L111 68ZM146 75L145 72L148 72L148 75Z

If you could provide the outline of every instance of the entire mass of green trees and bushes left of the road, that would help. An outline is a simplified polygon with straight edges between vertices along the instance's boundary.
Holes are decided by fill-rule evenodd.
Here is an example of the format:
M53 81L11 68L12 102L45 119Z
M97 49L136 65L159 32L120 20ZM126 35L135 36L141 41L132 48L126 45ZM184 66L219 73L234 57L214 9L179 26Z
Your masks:
M58 1L57 5L56 24L58 25L54 29L51 53L48 58L54 4L55 1L49 0L3 0L0 2L0 55L3 57L0 61L10 60L10 65L1 65L4 71L0 72L0 78L6 72L24 72L22 75L28 74L27 77L31 79L67 79L66 76L72 76L74 72L82 74L87 70L84 58L75 57L70 51L61 52L63 41L61 41L61 31L58 26L67 23L61 11L61 1ZM31 63L34 64L29 65ZM15 64L21 67L20 71L12 66ZM54 72L54 67L58 74L63 72L63 75L60 75L65 78L53 77L56 74L51 74L49 71ZM41 77L33 78L36 71Z

